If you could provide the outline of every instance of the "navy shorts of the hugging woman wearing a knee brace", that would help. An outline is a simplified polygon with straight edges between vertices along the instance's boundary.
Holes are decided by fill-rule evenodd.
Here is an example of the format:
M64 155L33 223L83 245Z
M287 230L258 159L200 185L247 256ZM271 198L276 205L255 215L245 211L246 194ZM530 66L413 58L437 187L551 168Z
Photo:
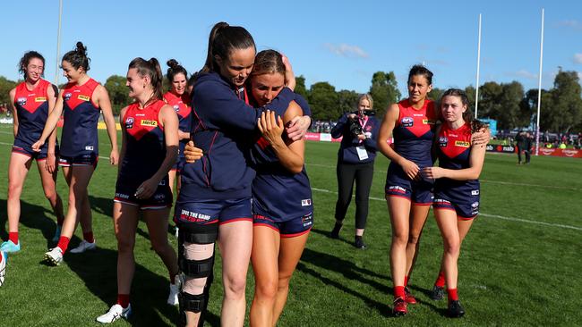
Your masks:
M174 222L178 225L181 223L224 224L239 221L252 222L251 197L175 203Z

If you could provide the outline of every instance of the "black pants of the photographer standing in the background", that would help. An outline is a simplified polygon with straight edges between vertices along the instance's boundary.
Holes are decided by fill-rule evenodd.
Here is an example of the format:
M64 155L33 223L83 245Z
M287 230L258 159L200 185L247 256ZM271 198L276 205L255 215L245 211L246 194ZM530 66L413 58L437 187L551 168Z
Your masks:
M338 163L338 203L336 220L346 218L347 207L352 200L355 180L355 228L364 229L368 218L368 197L372 188L374 163L343 164Z

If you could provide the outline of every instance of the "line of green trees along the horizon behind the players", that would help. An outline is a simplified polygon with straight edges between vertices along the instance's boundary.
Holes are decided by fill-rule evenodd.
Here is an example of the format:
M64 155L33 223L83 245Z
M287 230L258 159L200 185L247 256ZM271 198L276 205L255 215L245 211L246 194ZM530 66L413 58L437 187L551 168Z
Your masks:
M16 84L17 81L0 76L0 105L10 102L8 92ZM164 85L165 89L169 88L166 80ZM131 102L123 76L110 76L104 86L109 92L114 113L119 113ZM468 86L465 91L471 108L475 110L475 88ZM296 78L295 92L304 96L311 105L313 120L321 121L335 121L342 113L355 110L360 96L354 90L336 91L334 86L325 81L313 83L310 88L306 88L303 76ZM389 105L407 97L400 94L393 71L373 73L368 92L372 95L374 109L380 117L386 113ZM443 92L441 88L433 88L429 97L438 100ZM499 130L531 126L536 121L537 95L537 89L525 91L518 81L485 82L479 88L478 116L496 120ZM576 71L560 69L552 88L542 90L540 129L561 132L582 130L582 87Z

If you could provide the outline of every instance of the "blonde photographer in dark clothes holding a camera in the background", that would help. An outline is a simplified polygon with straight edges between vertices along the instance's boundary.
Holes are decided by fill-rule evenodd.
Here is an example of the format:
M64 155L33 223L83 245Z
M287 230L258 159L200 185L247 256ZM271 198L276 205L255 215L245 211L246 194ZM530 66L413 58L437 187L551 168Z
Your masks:
M365 94L358 100L357 111L344 113L331 130L333 138L343 137L338 151L338 203L336 224L331 238L338 239L352 199L355 180L355 242L354 246L365 249L364 228L368 216L368 197L372 187L376 139L380 122L373 116L372 96Z

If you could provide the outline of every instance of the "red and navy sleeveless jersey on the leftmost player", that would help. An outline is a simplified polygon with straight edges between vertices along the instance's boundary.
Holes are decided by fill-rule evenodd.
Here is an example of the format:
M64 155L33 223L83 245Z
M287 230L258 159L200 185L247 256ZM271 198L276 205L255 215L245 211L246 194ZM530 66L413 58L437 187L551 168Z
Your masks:
M15 140L30 146L39 140L47 122L47 88L50 86L49 81L41 79L32 90L26 87L26 82L16 87L14 108L18 116L18 133Z

